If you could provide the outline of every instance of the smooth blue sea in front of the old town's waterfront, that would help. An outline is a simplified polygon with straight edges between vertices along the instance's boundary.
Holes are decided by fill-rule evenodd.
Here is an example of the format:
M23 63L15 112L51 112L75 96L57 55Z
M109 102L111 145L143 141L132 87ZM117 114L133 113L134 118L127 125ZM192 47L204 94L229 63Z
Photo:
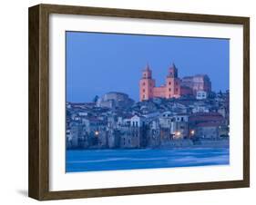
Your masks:
M66 171L114 171L223 165L228 148L67 151Z

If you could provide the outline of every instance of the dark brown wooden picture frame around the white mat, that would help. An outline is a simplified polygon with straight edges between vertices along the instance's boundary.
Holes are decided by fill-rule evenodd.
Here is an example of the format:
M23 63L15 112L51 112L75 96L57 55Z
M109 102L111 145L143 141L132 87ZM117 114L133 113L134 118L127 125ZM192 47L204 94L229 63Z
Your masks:
M49 15L100 15L177 20L243 26L243 180L163 184L93 190L49 190ZM250 186L250 18L192 15L69 5L29 8L29 181L28 195L36 200L59 200L147 194L185 190L214 190Z

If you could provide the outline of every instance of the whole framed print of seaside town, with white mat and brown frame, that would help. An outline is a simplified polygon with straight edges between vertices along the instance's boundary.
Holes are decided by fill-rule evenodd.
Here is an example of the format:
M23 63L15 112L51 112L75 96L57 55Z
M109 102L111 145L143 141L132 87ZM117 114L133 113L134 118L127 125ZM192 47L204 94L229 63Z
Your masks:
M250 185L250 19L29 8L29 196Z

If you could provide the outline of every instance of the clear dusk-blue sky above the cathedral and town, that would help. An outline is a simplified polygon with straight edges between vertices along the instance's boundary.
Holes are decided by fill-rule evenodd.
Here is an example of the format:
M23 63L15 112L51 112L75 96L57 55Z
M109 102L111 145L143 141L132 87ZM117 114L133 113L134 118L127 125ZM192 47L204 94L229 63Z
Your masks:
M67 32L67 102L91 102L108 92L138 101L147 63L157 86L175 63L180 78L205 73L213 91L229 89L228 39Z

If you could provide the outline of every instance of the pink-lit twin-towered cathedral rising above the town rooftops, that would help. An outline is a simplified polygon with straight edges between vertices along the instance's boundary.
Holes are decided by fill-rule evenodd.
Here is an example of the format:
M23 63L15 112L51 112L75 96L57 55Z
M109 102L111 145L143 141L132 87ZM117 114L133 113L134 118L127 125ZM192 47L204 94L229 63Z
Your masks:
M199 91L210 93L210 78L206 74L195 76L178 77L178 69L173 63L169 67L165 83L157 87L155 79L152 78L152 71L147 67L142 71L139 81L139 100L147 101L152 98L179 98L181 95L196 95Z

